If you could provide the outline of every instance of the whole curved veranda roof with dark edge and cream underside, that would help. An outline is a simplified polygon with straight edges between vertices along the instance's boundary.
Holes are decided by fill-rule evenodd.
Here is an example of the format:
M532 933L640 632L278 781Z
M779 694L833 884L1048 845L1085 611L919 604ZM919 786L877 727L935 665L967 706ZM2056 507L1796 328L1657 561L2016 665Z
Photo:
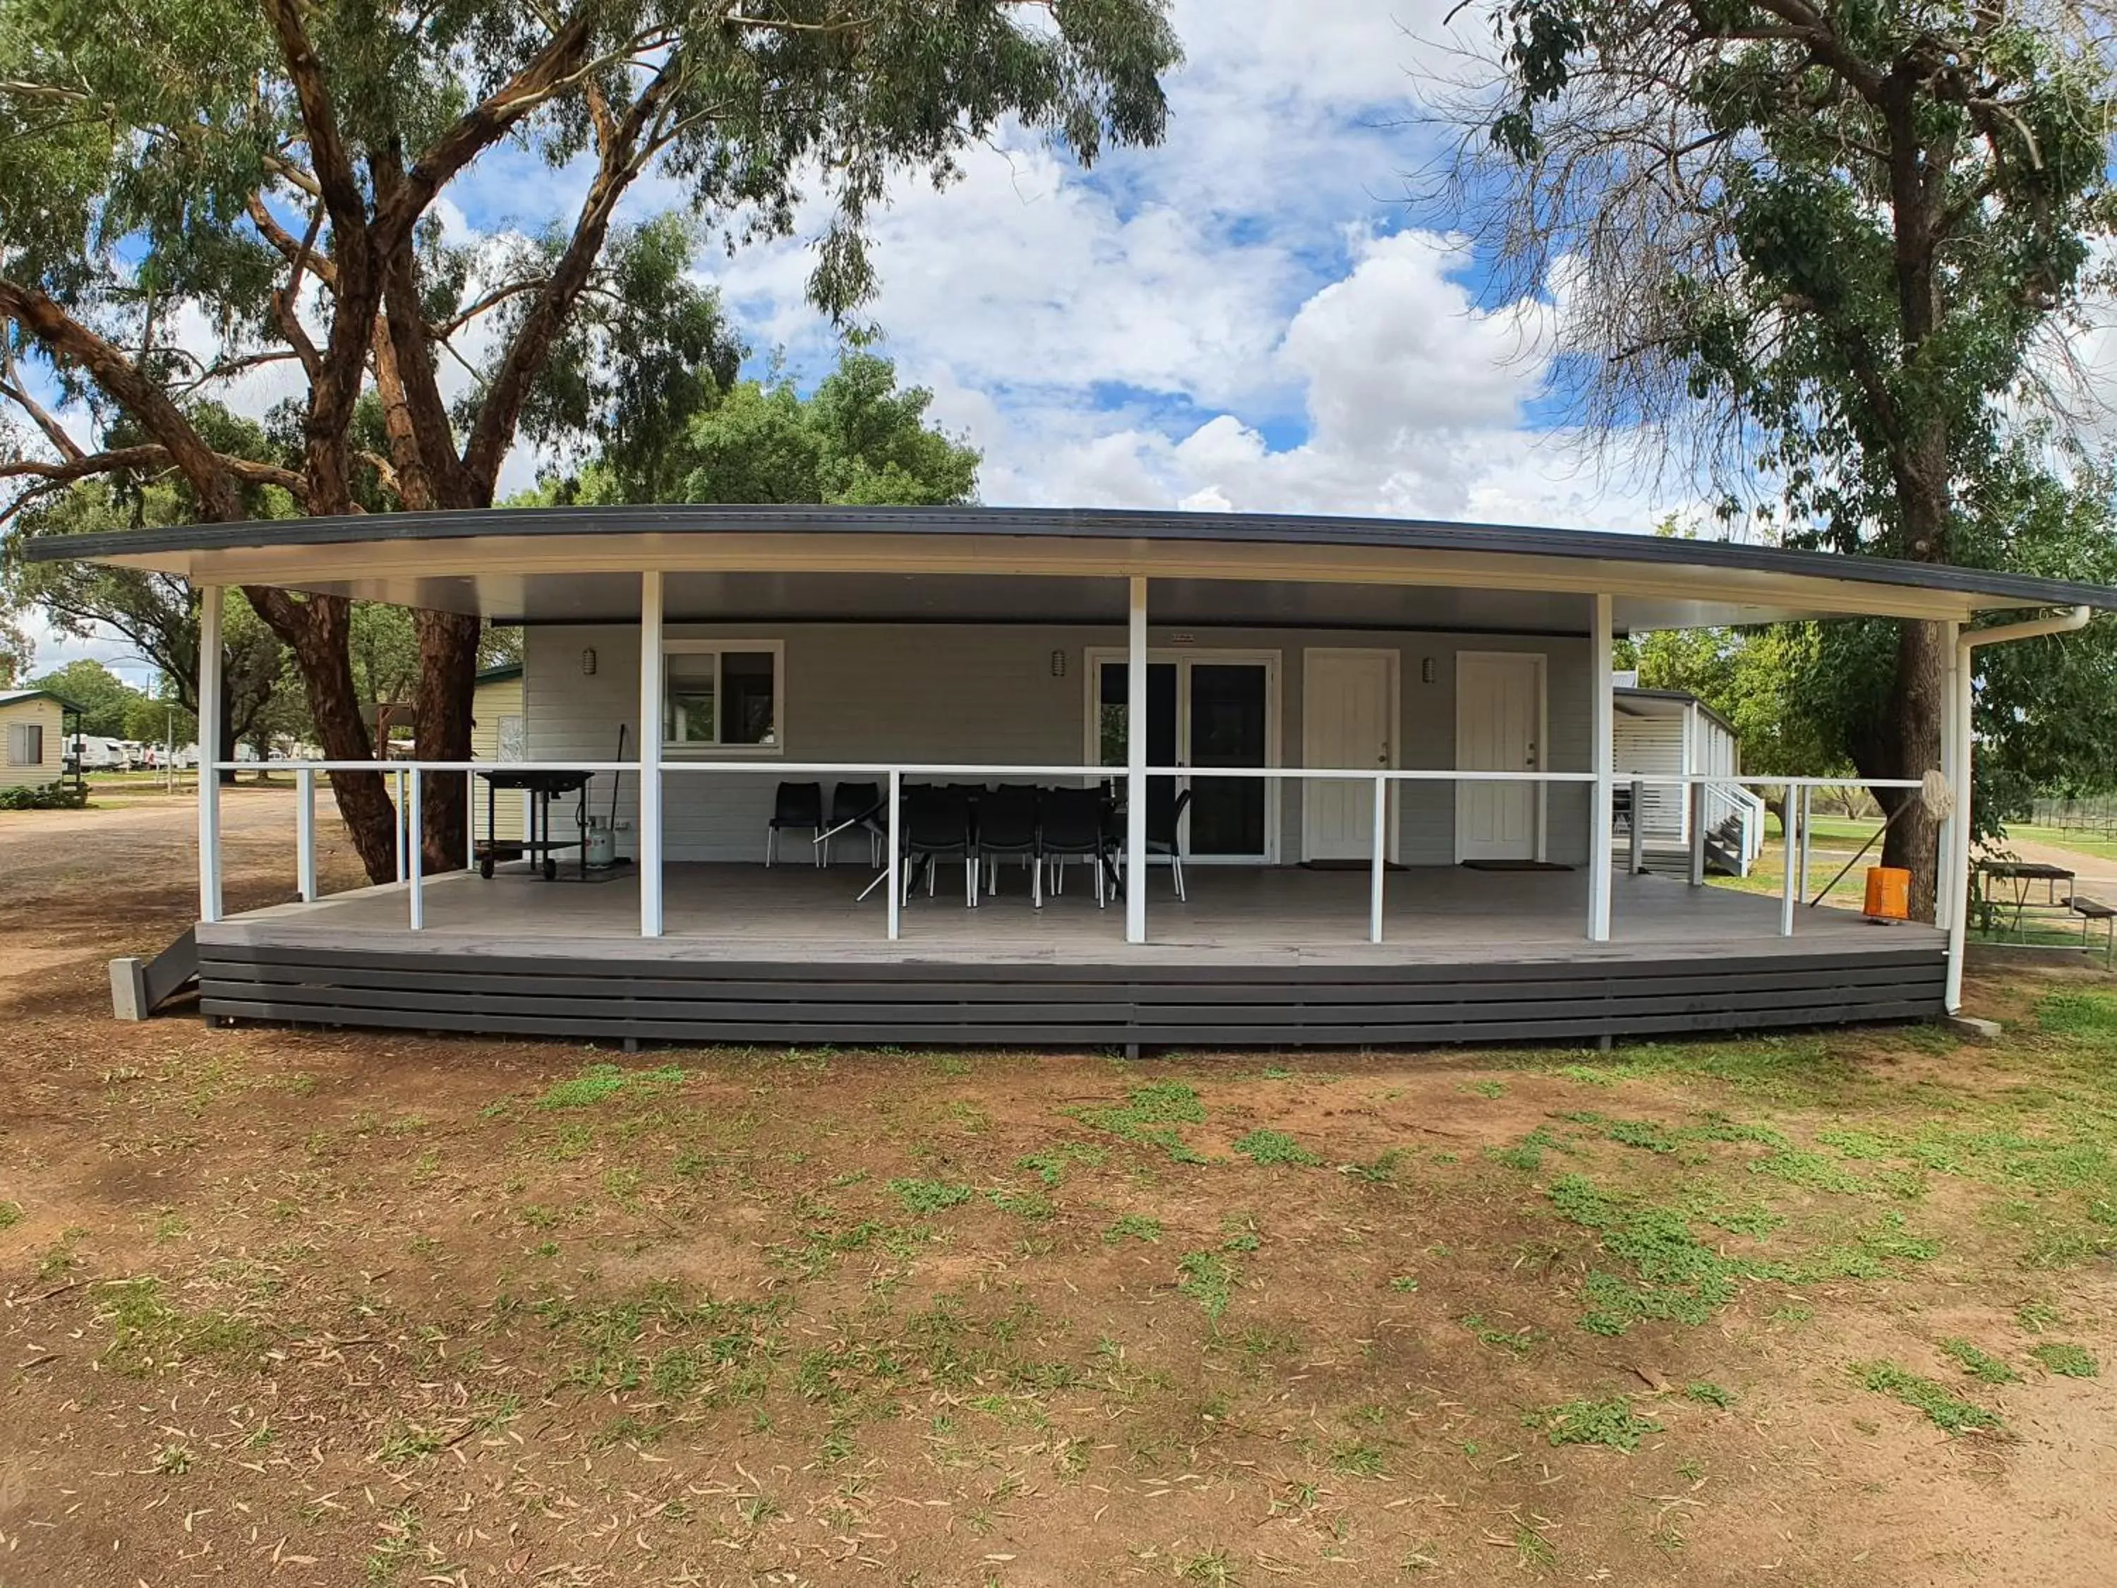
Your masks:
M275 584L497 622L614 622L661 570L684 620L1122 620L1588 633L1783 618L1975 620L2117 591L1975 567L1531 525L1086 508L487 508L38 538L201 584Z

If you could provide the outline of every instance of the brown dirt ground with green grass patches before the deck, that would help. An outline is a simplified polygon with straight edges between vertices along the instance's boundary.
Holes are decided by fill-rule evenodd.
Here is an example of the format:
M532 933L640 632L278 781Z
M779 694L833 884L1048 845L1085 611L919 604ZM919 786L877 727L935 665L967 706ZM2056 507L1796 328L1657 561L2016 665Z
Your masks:
M116 1025L191 819L0 815L6 1588L2111 1582L2085 970L1982 1046Z

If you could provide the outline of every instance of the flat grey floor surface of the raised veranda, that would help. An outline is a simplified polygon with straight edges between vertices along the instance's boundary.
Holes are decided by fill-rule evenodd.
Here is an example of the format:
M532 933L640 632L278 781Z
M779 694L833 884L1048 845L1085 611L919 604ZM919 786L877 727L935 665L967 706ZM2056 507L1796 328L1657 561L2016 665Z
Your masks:
M792 959L948 963L1499 963L1649 961L1774 953L1899 953L1943 946L1931 927L1869 925L1833 908L1799 908L1778 936L1778 900L1662 877L1615 879L1613 940L1586 938L1586 872L1476 872L1454 866L1389 874L1385 942L1368 942L1368 872L1300 868L1190 870L1179 904L1156 868L1145 944L1124 942L1124 908L1094 906L1082 868L1067 894L1031 908L1027 877L1001 868L999 896L963 908L961 868L940 896L904 908L885 938L885 900L864 904L866 866L669 866L665 932L639 938L639 885L491 881L453 872L426 883L426 930L406 927L406 889L368 887L313 904L279 904L201 927L201 942L387 949L567 959ZM955 883L951 896L948 883Z

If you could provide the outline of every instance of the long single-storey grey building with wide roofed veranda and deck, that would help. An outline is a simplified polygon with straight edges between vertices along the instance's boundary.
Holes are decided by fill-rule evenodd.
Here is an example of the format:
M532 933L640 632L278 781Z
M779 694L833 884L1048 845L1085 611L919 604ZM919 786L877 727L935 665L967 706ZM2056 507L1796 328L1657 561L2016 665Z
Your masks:
M2117 608L1967 567L1230 512L394 512L30 555L188 578L207 671L229 584L519 625L521 756L495 724L478 760L390 766L413 805L432 779L586 777L625 864L423 877L413 853L402 881L326 898L305 822L301 902L229 917L201 779L201 1008L597 1040L1281 1046L1939 1014L1975 646ZM1613 642L1848 616L1960 642L1939 927L1622 864ZM307 766L305 798L334 771ZM1700 811L1747 779L1651 786ZM557 838L580 798L559 794Z

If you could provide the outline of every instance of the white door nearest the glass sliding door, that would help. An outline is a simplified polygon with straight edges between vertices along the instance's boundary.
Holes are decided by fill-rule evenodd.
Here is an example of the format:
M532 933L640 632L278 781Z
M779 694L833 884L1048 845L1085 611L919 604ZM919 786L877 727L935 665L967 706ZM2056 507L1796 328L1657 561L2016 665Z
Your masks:
M1302 764L1397 764L1397 652L1302 652ZM1395 832L1389 847L1395 849ZM1374 783L1302 783L1302 858L1374 858Z

